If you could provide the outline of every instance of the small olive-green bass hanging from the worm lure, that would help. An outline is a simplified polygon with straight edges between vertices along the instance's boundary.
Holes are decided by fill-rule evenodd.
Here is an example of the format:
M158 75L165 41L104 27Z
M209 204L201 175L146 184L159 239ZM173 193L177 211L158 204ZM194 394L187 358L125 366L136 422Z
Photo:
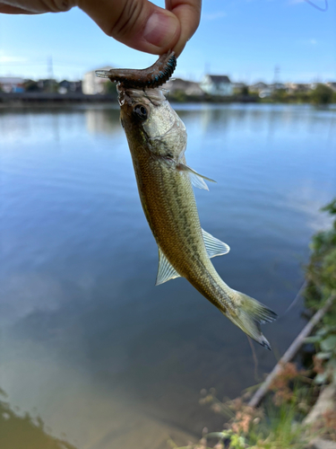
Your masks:
M117 70L106 77L116 78ZM117 91L142 209L158 244L156 285L185 277L228 320L271 350L260 325L274 321L277 314L230 288L211 263L213 257L227 254L230 249L202 229L193 185L208 189L205 181L213 180L186 164L185 124L159 83L147 87L148 73L142 85L139 81L138 75L136 84L132 79L128 82L127 77L119 78Z

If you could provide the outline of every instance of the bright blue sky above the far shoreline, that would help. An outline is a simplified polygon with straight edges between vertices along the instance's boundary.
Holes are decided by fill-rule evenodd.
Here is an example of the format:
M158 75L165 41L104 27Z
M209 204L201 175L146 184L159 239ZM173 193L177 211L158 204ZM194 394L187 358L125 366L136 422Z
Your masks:
M324 0L313 0L324 6ZM164 1L154 3L163 5ZM85 13L0 14L0 76L81 79L102 66L143 68L156 59L108 38ZM336 2L325 13L305 0L203 0L201 25L176 76L204 71L232 81L336 81Z

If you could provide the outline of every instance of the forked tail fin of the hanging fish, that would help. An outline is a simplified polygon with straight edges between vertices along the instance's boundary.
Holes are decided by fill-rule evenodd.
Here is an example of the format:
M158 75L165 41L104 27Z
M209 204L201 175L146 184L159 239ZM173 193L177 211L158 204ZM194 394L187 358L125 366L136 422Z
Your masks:
M276 320L277 314L271 311L265 305L259 303L254 298L244 295L244 293L235 292L235 304L238 304L235 313L227 313L225 315L233 323L243 330L251 339L254 339L263 348L271 350L271 345L268 340L263 336L263 332L260 330L260 325L264 322L271 322Z

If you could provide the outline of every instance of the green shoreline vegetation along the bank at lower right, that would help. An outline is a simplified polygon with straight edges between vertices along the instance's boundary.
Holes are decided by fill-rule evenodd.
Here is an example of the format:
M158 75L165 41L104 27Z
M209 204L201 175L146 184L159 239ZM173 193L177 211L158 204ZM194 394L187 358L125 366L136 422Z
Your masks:
M225 428L210 434L204 429L198 444L183 448L169 440L171 448L336 449L336 198L322 210L334 221L312 239L302 292L307 320L319 314L320 321L296 362L278 365L259 407L251 406L254 393L268 377L232 401L202 391L201 404L220 413Z

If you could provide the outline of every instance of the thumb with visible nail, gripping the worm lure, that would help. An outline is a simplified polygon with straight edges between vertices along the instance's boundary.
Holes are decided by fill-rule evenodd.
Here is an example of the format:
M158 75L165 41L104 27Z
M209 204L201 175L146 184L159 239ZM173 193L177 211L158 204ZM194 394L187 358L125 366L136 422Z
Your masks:
M79 7L108 36L128 47L160 55L177 44L177 16L147 0L79 0Z

